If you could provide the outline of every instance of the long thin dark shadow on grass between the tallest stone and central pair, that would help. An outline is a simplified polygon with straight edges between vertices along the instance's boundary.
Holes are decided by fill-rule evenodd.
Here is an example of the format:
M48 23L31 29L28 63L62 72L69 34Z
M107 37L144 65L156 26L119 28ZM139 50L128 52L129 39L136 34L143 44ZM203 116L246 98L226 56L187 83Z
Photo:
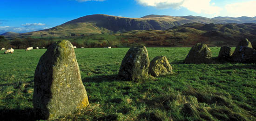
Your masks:
M117 81L121 79L118 77L117 74L112 74L112 75L96 75L92 77L86 77L83 78L83 82L104 82L104 81Z

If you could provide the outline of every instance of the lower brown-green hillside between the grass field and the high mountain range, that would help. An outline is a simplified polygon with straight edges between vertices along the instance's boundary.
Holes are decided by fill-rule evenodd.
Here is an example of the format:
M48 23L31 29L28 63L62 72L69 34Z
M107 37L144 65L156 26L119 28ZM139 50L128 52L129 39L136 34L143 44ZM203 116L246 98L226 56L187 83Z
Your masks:
M244 38L256 45L256 24L202 24L187 23L168 30L132 30L121 34L88 34L67 37L43 37L39 39L21 38L22 47L47 47L53 41L70 40L80 47L192 47L196 43L206 43L209 47L236 47ZM29 44L34 41L34 44ZM14 47L15 48L15 47Z

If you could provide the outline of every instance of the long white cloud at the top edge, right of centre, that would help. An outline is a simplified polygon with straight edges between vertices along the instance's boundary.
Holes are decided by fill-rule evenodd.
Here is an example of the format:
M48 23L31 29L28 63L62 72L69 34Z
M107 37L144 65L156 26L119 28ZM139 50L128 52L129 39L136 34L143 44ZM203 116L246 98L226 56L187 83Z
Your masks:
M211 0L136 0L144 6L157 8L181 8L185 7L195 13L219 14L222 8L214 6Z

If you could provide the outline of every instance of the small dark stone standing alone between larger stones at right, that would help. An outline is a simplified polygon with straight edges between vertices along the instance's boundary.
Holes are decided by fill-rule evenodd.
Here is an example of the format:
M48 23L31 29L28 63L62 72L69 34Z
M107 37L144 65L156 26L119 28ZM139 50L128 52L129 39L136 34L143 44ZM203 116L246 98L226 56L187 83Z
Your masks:
M218 58L222 60L229 60L232 54L233 52L231 51L231 47L223 46L221 47Z

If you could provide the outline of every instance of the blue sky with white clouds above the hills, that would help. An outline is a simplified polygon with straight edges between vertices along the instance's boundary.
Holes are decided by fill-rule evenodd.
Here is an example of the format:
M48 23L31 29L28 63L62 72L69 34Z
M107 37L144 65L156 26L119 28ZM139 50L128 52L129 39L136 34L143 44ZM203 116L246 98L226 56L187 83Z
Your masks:
M0 34L38 31L91 14L255 17L255 8L256 0L1 0Z

